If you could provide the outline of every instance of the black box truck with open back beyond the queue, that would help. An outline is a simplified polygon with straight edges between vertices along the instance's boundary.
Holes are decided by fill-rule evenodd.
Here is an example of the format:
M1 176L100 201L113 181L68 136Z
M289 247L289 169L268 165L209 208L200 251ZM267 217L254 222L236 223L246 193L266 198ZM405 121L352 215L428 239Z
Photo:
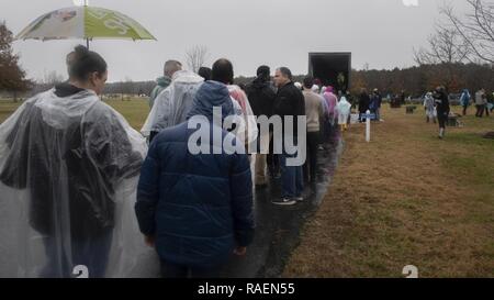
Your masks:
M308 54L308 74L319 79L323 86L333 86L337 91L350 89L351 53L328 52Z

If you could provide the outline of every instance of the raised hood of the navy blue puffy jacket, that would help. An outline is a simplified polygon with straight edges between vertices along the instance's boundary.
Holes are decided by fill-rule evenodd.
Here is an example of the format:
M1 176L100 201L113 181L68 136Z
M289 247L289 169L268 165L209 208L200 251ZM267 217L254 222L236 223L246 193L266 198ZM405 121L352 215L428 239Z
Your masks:
M213 120L214 107L222 108L222 119L235 114L232 98L226 86L217 81L205 81L199 88L187 119L193 115L204 115L209 120Z

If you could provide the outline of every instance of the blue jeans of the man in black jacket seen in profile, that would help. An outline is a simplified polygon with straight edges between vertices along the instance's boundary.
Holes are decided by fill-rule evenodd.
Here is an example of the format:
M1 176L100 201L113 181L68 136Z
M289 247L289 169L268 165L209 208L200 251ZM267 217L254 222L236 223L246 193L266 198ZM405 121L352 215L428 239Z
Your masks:
M281 165L281 197L294 198L301 197L304 191L304 176L302 166L287 166L287 158L295 157L283 153L280 155Z

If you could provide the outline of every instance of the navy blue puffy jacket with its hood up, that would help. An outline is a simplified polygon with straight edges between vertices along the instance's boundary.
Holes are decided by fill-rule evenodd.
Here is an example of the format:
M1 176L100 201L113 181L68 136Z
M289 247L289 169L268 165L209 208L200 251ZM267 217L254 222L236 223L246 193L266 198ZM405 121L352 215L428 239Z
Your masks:
M213 107L233 113L225 85L207 81L194 98L189 118L204 115L213 129ZM216 126L223 136L238 141ZM143 165L135 211L141 231L155 236L161 259L214 267L235 246L254 237L252 182L245 154L198 154L188 149L195 130L188 123L167 129L153 141ZM212 132L212 130L211 130ZM210 138L210 148L213 147Z

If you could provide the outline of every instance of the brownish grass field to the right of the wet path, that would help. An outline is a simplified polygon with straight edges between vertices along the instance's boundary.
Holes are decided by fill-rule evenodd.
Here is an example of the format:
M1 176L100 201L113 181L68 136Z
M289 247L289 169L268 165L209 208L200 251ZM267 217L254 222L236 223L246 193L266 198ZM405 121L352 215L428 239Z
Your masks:
M287 277L494 277L494 116L447 129L423 111L385 109L346 149L319 211L305 225ZM454 108L459 112L458 108ZM473 109L470 108L470 114Z

